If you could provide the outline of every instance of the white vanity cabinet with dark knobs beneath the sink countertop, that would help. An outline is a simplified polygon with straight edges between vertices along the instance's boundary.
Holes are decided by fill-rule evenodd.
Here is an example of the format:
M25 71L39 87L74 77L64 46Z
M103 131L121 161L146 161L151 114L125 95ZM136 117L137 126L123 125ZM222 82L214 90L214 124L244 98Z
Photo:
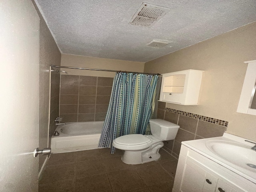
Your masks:
M172 192L255 192L255 184L182 145Z

